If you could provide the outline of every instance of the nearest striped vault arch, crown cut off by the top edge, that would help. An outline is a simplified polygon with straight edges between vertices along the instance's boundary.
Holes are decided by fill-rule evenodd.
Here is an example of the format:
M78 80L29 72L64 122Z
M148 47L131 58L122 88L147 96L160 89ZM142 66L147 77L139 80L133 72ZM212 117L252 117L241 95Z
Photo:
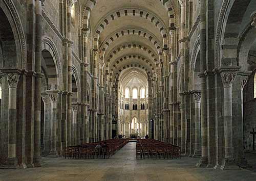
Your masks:
M88 0L86 6L84 6L84 16L83 16L83 28L89 27L89 20L91 11L93 10L94 6L96 5L98 0ZM162 5L165 7L166 11L168 12L168 16L170 18L170 27L174 27L175 22L175 12L172 0L159 0Z

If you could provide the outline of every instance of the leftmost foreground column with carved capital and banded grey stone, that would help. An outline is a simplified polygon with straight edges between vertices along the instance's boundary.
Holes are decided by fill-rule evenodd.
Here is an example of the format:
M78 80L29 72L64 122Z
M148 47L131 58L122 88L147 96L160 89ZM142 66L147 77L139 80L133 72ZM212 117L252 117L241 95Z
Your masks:
M16 122L17 122L17 85L19 75L17 73L8 73L9 84L9 104L8 104L8 158L3 167L17 168L16 157Z

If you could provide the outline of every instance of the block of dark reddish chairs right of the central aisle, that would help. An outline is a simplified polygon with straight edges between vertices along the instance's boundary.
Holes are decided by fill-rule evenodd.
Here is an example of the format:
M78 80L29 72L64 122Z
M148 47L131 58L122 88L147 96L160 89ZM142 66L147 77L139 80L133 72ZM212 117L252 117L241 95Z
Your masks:
M181 159L181 148L154 139L138 139L136 159Z

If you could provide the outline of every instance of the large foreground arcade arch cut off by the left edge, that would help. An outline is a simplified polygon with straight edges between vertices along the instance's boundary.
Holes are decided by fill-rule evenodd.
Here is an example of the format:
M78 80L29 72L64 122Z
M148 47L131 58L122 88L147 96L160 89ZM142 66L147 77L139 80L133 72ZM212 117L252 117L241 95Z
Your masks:
M27 43L24 34L24 30L17 14L16 8L12 1L1 1L0 2L0 13L1 13L1 26L0 31L2 33L2 40L7 41L4 38L8 37L8 51L6 53L12 56L12 59L8 57L8 62L10 62L10 66L8 68L15 68L23 69L26 66L27 62ZM3 24L2 24L3 23ZM4 28L3 30L1 30ZM3 35L4 34L4 35ZM10 44L11 43L11 44ZM2 46L2 45L1 45ZM13 48L10 48L10 47ZM2 50L7 50L5 47L1 47ZM9 55L8 55L9 56ZM5 65L4 65L5 66ZM6 67L6 66L5 66Z

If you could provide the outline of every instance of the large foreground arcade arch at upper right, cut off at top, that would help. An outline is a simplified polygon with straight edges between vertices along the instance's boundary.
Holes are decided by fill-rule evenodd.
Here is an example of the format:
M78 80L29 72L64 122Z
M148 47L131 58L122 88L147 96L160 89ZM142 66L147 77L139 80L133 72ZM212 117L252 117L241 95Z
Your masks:
M236 66L238 41L235 40L239 36L238 25L242 22L243 15L251 0L224 0L220 10L217 22L217 31L215 36L215 67L219 66ZM228 41L229 39L229 41ZM233 39L233 41L230 41ZM223 58L225 51L236 51L233 57Z

